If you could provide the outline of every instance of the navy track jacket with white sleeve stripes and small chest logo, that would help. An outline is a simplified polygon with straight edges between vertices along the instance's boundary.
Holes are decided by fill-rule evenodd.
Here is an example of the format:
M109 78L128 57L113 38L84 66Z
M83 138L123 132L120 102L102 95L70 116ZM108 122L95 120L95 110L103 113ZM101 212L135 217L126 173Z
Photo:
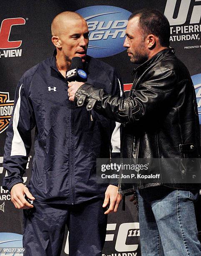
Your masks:
M87 82L120 95L115 69L87 57ZM28 188L39 202L76 204L103 196L108 184L96 182L96 158L110 157L115 123L92 111L75 108L55 55L29 69L18 83L7 129L4 186L23 183L35 127L35 156Z

